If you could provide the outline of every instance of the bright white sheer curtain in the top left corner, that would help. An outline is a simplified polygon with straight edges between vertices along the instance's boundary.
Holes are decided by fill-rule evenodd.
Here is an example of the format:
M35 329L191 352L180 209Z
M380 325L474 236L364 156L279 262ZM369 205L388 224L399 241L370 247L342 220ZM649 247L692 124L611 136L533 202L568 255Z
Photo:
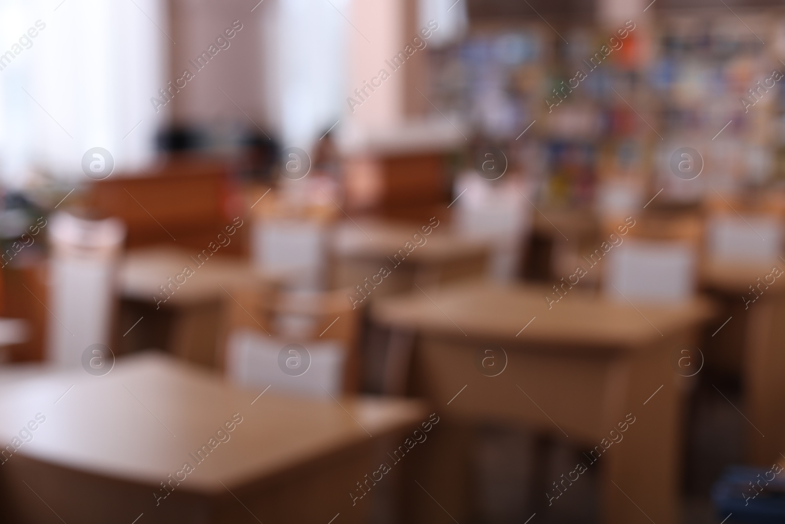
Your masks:
M38 20L46 27L0 71L0 180L82 181L93 147L115 172L144 167L166 115L150 103L168 80L164 0L2 0L0 55Z

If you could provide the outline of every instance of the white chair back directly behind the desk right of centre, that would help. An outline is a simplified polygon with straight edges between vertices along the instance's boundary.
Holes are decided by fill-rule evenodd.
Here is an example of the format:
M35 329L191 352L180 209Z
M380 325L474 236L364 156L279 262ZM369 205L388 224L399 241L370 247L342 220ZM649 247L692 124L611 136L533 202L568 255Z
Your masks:
M684 242L626 240L606 255L605 294L621 302L681 302L696 286L695 250Z

